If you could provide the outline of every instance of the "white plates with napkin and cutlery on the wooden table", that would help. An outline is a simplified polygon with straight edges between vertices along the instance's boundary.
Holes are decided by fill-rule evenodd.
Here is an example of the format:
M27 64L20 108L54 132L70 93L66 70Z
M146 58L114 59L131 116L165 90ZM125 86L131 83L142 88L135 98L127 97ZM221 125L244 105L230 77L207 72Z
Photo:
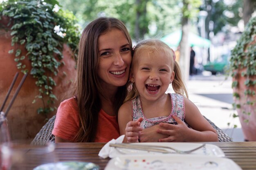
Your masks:
M99 152L104 170L242 170L216 145L192 142L122 144L112 139Z

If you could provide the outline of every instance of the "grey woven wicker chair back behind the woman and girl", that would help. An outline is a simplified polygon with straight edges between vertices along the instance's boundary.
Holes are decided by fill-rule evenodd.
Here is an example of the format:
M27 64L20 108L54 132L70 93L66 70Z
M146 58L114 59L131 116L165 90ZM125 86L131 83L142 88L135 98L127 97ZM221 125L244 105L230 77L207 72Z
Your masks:
M52 130L54 127L56 115L54 115L49 121L42 127L42 129L38 132L36 137L33 139L31 144L46 144L47 142L55 142L55 137L52 135ZM206 117L204 117L207 119ZM212 121L207 119L211 126L217 131L219 141L232 141L232 139L223 132L220 128L218 128Z

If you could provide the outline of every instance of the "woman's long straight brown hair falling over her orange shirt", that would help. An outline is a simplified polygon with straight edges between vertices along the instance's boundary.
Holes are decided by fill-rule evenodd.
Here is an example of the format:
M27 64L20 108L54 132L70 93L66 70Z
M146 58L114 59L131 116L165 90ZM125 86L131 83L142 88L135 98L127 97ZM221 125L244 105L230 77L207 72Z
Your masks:
M74 92L79 109L80 128L72 139L74 142L94 142L96 137L98 113L101 110L99 94L103 93L97 75L99 64L98 38L113 28L124 32L132 50L132 40L126 26L116 18L98 18L88 24L81 35ZM118 87L113 104L116 115L126 94L126 86Z

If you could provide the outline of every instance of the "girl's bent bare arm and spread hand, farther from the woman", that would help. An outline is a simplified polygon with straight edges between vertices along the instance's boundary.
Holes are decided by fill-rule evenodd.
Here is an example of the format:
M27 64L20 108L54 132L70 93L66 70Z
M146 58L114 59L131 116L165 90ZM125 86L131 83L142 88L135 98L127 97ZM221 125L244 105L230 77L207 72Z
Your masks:
M189 99L184 98L185 121L191 128L178 117L173 116L177 125L160 123L166 130L158 129L157 132L169 135L161 142L168 141L218 141L218 134L211 124L201 115L198 108Z

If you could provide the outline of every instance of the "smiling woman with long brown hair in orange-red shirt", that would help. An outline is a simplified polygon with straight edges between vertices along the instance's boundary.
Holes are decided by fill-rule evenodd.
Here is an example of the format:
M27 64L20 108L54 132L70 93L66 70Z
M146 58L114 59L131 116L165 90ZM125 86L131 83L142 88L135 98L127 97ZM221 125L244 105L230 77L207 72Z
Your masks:
M119 137L117 112L127 94L132 41L116 18L98 18L79 42L74 96L61 102L56 142L108 142Z

